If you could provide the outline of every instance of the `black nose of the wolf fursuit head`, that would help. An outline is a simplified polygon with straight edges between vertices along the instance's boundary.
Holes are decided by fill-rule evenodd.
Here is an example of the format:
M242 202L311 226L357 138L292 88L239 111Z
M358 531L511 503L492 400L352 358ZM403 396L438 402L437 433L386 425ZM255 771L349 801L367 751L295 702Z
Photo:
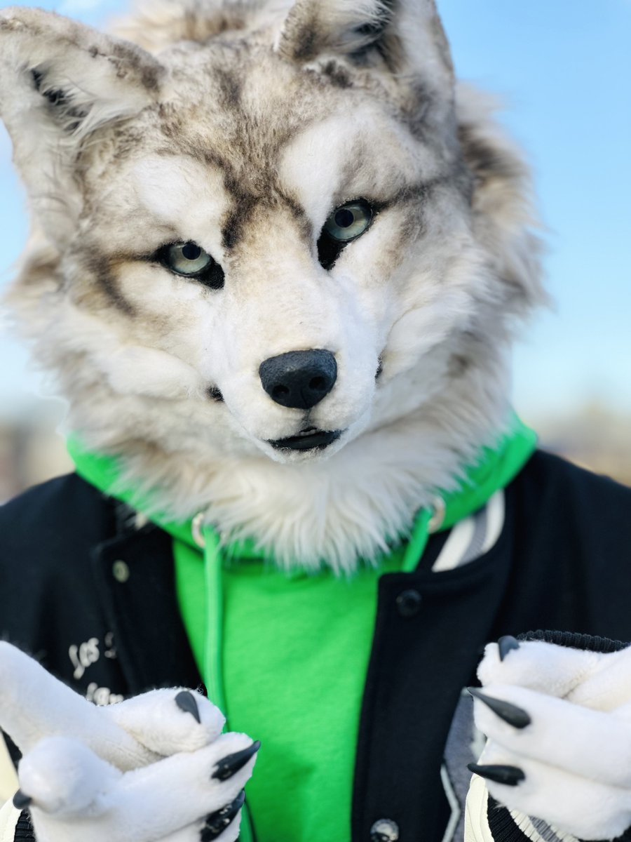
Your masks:
M289 351L263 360L258 374L273 401L282 407L310 409L331 392L337 363L331 351Z

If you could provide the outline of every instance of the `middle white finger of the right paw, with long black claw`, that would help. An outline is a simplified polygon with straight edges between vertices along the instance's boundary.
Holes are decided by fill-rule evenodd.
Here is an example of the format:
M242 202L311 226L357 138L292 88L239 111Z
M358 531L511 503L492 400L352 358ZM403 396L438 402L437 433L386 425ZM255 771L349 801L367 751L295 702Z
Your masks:
M522 687L471 692L476 726L503 748L592 781L631 787L631 722Z

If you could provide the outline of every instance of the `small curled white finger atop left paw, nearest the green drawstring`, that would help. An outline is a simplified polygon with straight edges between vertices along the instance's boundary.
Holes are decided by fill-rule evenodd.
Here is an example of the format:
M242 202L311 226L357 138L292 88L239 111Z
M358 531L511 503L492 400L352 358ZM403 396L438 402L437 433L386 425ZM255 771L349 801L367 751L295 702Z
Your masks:
M183 688L151 690L103 712L147 749L164 757L203 748L219 737L225 725L218 707Z

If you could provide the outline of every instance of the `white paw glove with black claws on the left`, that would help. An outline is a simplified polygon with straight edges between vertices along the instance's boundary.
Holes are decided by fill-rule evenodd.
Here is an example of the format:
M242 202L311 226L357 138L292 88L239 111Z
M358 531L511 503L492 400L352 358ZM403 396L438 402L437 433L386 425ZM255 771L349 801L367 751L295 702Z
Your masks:
M259 743L189 690L97 707L0 642L0 727L38 842L234 842Z

